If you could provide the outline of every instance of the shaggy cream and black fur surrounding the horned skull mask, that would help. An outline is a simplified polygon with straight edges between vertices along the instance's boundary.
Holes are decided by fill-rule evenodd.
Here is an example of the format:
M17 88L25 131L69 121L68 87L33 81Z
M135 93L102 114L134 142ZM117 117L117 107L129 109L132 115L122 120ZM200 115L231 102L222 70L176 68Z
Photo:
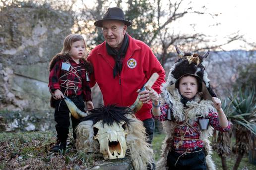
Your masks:
M94 125L97 122L102 121L102 128L105 128L106 125L122 123L126 133L126 154L130 156L133 168L147 170L147 166L152 166L154 153L150 144L146 142L145 127L140 120L136 119L131 110L126 107L101 106L90 112L91 114L81 119L82 122L76 128L75 146L79 152L100 154L100 142L95 140L97 131Z

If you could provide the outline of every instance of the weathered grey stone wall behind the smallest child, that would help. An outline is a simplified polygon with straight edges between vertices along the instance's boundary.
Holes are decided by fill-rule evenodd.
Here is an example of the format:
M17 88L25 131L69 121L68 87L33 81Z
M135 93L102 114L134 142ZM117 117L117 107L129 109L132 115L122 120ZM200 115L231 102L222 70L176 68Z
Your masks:
M48 64L71 33L71 15L43 7L13 7L0 11L0 18L0 110L53 110Z

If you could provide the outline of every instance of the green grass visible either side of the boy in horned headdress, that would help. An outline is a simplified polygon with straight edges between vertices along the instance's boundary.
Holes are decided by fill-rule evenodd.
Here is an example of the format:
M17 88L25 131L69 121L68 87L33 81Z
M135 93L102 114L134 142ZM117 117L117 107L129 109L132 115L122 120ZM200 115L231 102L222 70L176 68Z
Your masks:
M161 153L160 150L161 150L161 146L162 146L162 142L163 142L164 138L165 138L165 134L156 133L154 135L152 145L153 145L153 149L154 149L154 153L155 153L156 162L159 160L160 153ZM217 170L222 170L221 159L215 151L213 151L212 158L217 167ZM230 167L229 170L233 169L236 158L237 158L237 155L231 155L229 158L227 158L227 167ZM247 167L248 170L256 170L256 165L249 163L248 155L243 157L238 170L242 170L244 167Z

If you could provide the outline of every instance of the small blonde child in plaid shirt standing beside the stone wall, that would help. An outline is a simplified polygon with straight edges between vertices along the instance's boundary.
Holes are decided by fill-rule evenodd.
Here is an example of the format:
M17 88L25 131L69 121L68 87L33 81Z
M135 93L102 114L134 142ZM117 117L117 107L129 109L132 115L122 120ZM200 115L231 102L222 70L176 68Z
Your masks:
M50 62L49 89L52 94L51 106L55 107L55 121L57 122L57 143L52 148L58 152L65 150L69 128L69 110L64 102L64 96L70 98L75 105L84 110L84 101L88 109L93 109L89 73L92 73L90 63L85 59L86 43L81 35L68 35L61 53L53 57ZM73 138L76 139L75 127L79 120L71 116Z

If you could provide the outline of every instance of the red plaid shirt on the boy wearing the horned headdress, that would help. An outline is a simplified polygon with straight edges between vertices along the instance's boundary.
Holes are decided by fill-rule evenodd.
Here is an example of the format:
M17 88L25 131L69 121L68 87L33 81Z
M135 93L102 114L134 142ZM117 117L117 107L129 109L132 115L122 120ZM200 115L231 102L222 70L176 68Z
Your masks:
M164 104L162 106L160 106L160 110L161 110L161 115L160 116L154 116L152 114L152 117L156 120L159 121L166 121L166 115L167 115L167 111L169 109L169 106L167 104ZM151 110L152 113L152 110ZM193 151L197 148L202 148L203 147L203 141L202 140L198 140L199 139L199 131L200 131L200 127L198 126L198 119L202 119L202 118L196 118L195 123L193 124L193 128L192 127L188 127L186 125L181 126L181 127L176 127L175 128L175 132L174 132L174 142L173 142L173 146L175 148L175 151L178 153L183 153L185 152L187 149L189 149L189 151ZM207 118L204 119L209 119L209 124L216 130L219 131L228 131L230 130L230 122L228 121L228 127L221 127L219 125L219 117L218 114L215 112L210 112L208 114ZM183 124L183 122L178 123L180 125ZM185 138L190 138L190 139L194 139L194 140L183 140L182 145L180 145L178 148L175 147L175 145L177 145L181 139L177 138L180 137L181 134L185 134Z

